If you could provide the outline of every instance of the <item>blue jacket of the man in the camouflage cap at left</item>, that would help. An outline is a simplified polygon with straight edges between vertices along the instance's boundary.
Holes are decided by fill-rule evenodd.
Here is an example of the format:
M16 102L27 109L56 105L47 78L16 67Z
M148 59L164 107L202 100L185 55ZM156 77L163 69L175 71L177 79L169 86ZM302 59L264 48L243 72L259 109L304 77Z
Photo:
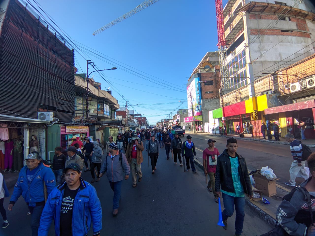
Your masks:
M10 204L14 205L20 195L22 195L29 206L36 206L37 202L45 201L44 182L48 195L56 186L54 172L49 167L44 166L42 162L38 164L38 169L30 183L28 183L26 178L27 169L27 166L24 166L19 173Z

